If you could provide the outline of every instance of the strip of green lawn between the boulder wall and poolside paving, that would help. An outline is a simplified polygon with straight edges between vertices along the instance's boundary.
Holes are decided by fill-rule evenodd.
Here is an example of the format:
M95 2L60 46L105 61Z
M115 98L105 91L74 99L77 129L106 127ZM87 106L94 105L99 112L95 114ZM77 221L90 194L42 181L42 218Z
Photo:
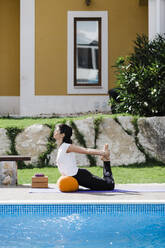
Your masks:
M93 174L102 177L101 167L88 167ZM112 167L115 182L127 183L165 183L165 166L119 166ZM56 183L60 173L56 167L18 169L18 183L30 184L31 177L36 173L44 173L49 178L49 183Z

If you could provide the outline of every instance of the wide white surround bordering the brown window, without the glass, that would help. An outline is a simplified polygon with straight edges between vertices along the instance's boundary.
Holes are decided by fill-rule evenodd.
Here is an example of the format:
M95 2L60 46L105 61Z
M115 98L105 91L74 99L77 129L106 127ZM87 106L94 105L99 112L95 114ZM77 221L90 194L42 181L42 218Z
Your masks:
M101 17L101 86L74 86L74 18ZM108 94L108 12L68 11L68 94Z

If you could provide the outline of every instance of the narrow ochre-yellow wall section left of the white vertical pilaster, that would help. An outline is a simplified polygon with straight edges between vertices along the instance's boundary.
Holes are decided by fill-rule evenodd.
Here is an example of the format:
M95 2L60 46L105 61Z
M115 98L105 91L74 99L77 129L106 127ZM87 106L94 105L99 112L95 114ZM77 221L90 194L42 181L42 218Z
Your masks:
M19 95L19 1L0 0L0 96Z

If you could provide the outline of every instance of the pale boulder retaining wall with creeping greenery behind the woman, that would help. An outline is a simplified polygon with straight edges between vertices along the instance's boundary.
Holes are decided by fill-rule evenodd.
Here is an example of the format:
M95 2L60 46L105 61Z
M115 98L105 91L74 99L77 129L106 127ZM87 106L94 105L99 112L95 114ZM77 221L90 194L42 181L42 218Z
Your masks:
M115 119L103 118L98 123L97 130L94 118L68 123L73 127L73 142L82 145L76 134L78 132L87 147L102 149L108 143L112 166L143 163L147 156L165 163L165 117L136 120L130 116L119 116ZM54 127L35 124L18 133L15 150L17 154L32 157L31 162L26 162L27 166L29 163L33 166L41 166L41 163L56 166L57 148L55 141L50 139L53 129ZM6 129L0 128L0 155L11 152L10 147L11 140ZM79 166L102 165L99 157L76 154L76 160ZM1 168L1 181L4 180L3 171L7 173L5 168Z

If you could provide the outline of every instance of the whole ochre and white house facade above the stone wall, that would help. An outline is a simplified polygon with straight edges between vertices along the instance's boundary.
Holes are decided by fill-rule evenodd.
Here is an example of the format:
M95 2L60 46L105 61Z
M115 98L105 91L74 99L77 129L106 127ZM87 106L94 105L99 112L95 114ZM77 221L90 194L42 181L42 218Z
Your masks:
M148 1L0 0L0 115L109 111L116 59L165 33L165 0Z

